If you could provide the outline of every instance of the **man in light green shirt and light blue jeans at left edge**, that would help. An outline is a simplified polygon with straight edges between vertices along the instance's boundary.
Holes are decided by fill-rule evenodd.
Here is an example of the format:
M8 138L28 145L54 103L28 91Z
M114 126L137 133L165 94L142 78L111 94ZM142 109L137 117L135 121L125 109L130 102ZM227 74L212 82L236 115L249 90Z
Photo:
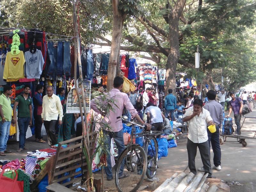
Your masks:
M0 96L0 156L5 156L4 152L12 152L6 150L12 121L11 99L9 98L11 94L12 87L4 86L4 93Z

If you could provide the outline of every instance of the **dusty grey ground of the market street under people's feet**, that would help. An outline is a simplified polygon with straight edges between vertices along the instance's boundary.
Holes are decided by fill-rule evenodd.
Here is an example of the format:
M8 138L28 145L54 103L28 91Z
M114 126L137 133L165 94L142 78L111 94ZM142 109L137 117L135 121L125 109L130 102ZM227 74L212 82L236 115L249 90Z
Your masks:
M248 114L250 117L256 117L256 110L253 109L252 113ZM244 118L242 117L241 123ZM256 119L246 119L242 130L256 130L254 126ZM243 136L253 137L252 132L242 132ZM44 137L44 139L46 139ZM19 143L13 140L8 141L8 149L12 150L12 153L7 153L6 156L1 156L0 159L13 160L18 158L26 158L27 151L33 151L36 149L48 148L47 144L35 142L35 137L30 137L26 140L26 148L20 153L16 152L19 148ZM227 141L236 141L234 138L227 138ZM256 139L246 139L247 147L242 147L239 142L224 142L221 145L221 171L213 170L213 175L223 180L224 182L236 181L241 185L231 185L231 192L252 192L256 191ZM161 185L167 178L170 178L175 172L189 173L188 155L187 155L187 135L183 135L178 140L178 147L169 148L168 156L162 157L159 163L159 169L157 170L157 177L159 182L157 186ZM213 153L211 150L211 163L213 165ZM199 155L199 151L196 156L196 167L201 167L203 164ZM95 173L95 178L101 178L101 172ZM115 182L107 181L104 173L104 184L108 191L116 191ZM143 185L150 184L144 182ZM150 190L145 190L150 191Z

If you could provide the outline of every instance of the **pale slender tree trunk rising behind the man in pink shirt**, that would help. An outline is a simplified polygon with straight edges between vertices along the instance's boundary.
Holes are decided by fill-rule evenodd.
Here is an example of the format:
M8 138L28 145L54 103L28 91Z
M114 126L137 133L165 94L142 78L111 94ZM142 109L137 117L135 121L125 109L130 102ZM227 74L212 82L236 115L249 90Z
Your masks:
M113 9L113 30L110 56L108 61L108 81L107 89L110 91L113 88L113 81L116 77L116 66L119 64L119 52L121 44L121 36L124 23L124 15L118 10L118 0L112 0Z

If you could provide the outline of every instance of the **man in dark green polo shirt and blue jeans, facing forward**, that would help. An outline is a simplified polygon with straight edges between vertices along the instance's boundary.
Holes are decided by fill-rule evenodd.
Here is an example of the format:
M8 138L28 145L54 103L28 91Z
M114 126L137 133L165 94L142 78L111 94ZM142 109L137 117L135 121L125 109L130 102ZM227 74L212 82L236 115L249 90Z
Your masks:
M19 150L22 151L25 148L26 133L28 130L28 125L32 125L32 99L28 96L30 93L30 87L28 85L24 86L24 92L15 98L15 103L13 106L13 123L16 123L16 108L18 106L18 126L19 126Z

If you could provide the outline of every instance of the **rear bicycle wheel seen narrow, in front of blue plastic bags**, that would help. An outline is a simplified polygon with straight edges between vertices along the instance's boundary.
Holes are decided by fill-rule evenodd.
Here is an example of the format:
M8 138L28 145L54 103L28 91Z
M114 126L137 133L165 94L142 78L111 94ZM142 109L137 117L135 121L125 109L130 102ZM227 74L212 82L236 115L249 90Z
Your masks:
M152 179L156 174L158 163L158 144L155 137L150 137L145 144L145 152L147 154L148 166L147 177Z

